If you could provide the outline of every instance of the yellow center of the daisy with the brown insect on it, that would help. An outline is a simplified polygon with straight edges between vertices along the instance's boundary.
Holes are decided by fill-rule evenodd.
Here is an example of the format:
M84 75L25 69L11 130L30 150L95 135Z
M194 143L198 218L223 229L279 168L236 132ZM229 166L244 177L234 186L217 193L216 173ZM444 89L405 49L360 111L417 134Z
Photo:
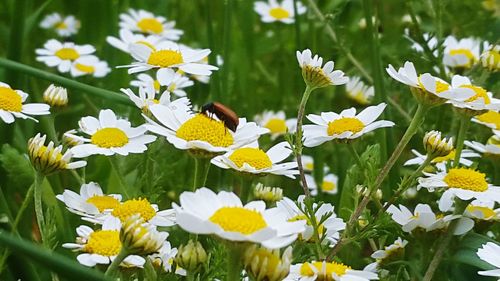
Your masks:
M177 130L176 136L186 141L206 141L217 147L228 147L234 143L233 135L224 126L224 122L205 114L196 114L184 122Z

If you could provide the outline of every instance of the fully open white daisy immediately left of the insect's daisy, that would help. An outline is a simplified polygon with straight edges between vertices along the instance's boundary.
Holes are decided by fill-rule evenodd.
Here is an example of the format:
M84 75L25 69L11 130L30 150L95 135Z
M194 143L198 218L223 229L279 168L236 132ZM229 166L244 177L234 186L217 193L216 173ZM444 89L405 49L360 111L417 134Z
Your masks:
M146 144L156 140L155 136L146 135L146 127L132 127L125 119L118 119L110 109L101 110L99 119L87 116L78 122L80 130L90 138L72 135L85 143L71 148L75 157L83 158L94 154L128 155L147 150Z

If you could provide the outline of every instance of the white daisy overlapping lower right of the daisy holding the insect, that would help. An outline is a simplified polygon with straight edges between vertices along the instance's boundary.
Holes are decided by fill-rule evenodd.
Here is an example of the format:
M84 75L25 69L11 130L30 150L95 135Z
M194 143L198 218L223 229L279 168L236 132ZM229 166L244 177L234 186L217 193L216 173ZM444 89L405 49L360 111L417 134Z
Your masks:
M291 153L288 142L280 142L267 152L262 151L258 145L246 146L216 156L211 163L222 169L233 169L242 173L283 175L294 179L295 175L299 174L297 162L281 163Z

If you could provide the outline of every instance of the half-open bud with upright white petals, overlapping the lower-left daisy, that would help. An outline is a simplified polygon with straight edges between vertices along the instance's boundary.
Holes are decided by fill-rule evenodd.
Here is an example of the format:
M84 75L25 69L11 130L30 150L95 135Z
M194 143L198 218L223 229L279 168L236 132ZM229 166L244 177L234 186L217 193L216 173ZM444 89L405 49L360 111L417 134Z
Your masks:
M167 232L158 232L139 214L130 216L120 229L120 241L130 254L149 255L156 253L168 237Z

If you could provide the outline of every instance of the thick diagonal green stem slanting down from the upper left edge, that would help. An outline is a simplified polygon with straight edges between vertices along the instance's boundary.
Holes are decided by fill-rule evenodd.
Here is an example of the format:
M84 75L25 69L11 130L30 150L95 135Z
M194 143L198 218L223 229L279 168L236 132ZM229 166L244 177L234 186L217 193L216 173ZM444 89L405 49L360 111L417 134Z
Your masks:
M12 60L0 58L0 67L18 71L33 77L57 83L63 87L80 90L90 95L102 97L110 101L115 101L121 104L133 105L132 102L125 96L113 91L97 88L84 83L77 82L53 73L45 72L34 67L18 63Z

